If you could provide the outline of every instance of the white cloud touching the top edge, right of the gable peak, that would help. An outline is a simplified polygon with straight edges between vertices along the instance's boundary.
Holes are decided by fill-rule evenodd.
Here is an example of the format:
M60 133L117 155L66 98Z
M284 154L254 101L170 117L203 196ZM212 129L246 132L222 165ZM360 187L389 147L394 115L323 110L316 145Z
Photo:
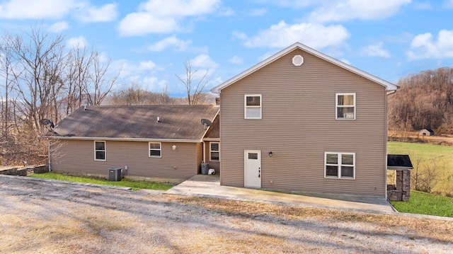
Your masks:
M353 19L371 20L393 16L411 0L343 0L324 1L309 15L309 21L325 23L329 21L350 21Z

